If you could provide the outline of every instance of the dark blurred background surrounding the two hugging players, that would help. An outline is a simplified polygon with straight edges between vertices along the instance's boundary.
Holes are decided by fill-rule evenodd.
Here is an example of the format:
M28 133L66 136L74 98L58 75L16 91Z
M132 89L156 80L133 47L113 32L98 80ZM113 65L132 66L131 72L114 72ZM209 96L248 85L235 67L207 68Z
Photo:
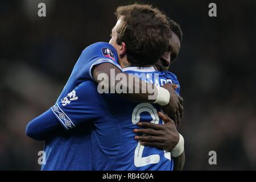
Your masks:
M40 169L43 142L26 137L27 122L55 104L82 49L108 42L115 9L133 2L0 1L0 169ZM256 1L137 2L159 7L183 30L171 71L185 100L184 169L256 169ZM208 16L210 2L217 17Z

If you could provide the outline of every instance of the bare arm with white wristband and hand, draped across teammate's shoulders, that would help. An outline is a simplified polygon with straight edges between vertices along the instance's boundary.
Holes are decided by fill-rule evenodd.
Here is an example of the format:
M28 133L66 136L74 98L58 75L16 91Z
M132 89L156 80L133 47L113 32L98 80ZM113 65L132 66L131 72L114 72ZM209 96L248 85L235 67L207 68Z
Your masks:
M111 71L115 73L113 76ZM119 74L119 77L125 77L127 79L115 79L115 76ZM117 84L122 85L127 93L120 93L122 97L125 97L134 102L150 102L159 104L164 113L174 119L177 125L180 125L180 118L183 117L183 99L178 96L174 90L174 85L166 84L162 88L157 88L154 84L142 81L139 77L129 75L128 73L121 72L121 70L113 64L102 63L93 67L92 76L94 81L98 84L107 86L105 88L111 91L115 91ZM129 82L133 81L133 84ZM130 92L131 90L131 92ZM139 93L133 92L133 90L140 90ZM144 90L145 92L142 92ZM114 92L116 93L116 92Z

